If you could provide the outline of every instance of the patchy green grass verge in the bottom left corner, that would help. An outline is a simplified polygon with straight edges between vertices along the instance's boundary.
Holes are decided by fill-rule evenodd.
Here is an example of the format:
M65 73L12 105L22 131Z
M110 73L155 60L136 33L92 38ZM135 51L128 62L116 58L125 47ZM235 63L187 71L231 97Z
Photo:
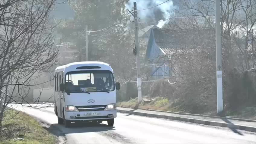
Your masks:
M8 110L5 114L0 131L0 144L55 144L57 142L56 137L44 129L37 120L22 112L16 114L15 110ZM13 116L15 117L12 118ZM18 138L23 138L24 141L14 140Z

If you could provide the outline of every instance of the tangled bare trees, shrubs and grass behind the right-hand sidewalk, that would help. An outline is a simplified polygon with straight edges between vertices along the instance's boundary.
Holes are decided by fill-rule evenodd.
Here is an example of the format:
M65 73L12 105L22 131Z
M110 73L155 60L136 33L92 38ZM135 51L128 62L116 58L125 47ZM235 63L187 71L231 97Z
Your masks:
M156 62L162 65L165 62L171 68L168 75L172 74L168 80L142 83L142 95L153 101L142 102L139 106L134 100L137 97L136 83L127 80L118 92L118 106L217 115L216 70L221 66L216 67L215 2L198 0L188 4L187 0L179 0L178 5L182 8L179 11L181 17L170 17L161 28L165 36L173 35L172 41L167 41L172 37L161 40L162 48L171 52L165 57L149 57L153 60L144 62L144 65L154 66ZM223 115L256 119L256 1L225 0L221 1L220 9ZM184 13L184 10L189 12ZM184 41L189 34L196 37ZM160 64L154 69L156 73L162 69ZM161 74L155 77L150 67L141 69L142 80L161 77Z

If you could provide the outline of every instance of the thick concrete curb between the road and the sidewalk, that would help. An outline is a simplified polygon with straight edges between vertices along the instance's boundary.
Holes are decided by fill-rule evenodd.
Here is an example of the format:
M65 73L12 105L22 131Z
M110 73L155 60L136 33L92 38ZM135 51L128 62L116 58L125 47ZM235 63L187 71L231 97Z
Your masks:
M152 114L152 113L134 112L134 111L130 111L130 110L118 110L117 109L117 112L129 113L129 114L134 114L134 115L139 115L139 116L148 116L148 117L155 117L155 118L179 120L179 121L203 124L203 125L208 125L208 126L228 127L231 129L240 129L240 130L245 130L245 131L250 131L250 132L256 132L256 127L236 125L236 124L232 124L232 123L221 123L221 122L207 121L207 120L201 120L201 119L191 119L191 118L178 117L178 116L168 116L168 115L159 115L159 114ZM221 117L221 118L223 118L223 117Z

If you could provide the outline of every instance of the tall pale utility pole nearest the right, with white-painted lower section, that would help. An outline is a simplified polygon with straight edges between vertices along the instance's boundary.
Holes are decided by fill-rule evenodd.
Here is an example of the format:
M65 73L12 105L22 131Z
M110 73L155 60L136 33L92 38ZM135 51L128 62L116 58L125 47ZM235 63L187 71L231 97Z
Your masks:
M223 111L223 93L222 93L222 47L220 36L220 2L215 1L215 19L216 19L216 74L217 74L217 112L222 114Z

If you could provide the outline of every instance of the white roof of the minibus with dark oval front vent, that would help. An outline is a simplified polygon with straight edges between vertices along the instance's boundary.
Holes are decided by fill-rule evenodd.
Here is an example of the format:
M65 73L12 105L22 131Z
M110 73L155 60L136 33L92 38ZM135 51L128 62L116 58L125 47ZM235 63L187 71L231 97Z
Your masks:
M81 61L81 62L74 62L69 63L66 65L62 65L56 67L55 72L64 71L66 74L69 71L78 71L78 70L88 70L88 69L77 69L77 67L86 67L86 66L98 66L101 68L89 69L89 70L110 70L113 73L113 69L110 67L109 64L100 62L100 61Z

